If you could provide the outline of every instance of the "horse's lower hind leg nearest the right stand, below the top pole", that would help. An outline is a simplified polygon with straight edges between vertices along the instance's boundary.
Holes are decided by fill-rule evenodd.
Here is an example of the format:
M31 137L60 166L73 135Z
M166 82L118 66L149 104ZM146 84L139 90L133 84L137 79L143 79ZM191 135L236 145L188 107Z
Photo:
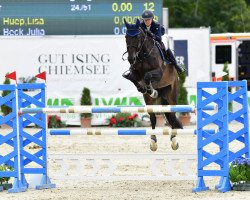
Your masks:
M181 122L175 116L175 113L164 113L172 129L183 129ZM170 141L172 142L171 147L173 150L179 148L179 143L176 140L176 133L172 133L170 136Z

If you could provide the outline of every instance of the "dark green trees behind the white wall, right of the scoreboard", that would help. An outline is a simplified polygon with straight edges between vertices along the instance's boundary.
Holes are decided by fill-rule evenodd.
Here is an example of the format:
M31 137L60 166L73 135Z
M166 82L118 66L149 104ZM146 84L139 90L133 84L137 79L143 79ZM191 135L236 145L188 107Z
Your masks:
M245 0L164 0L173 28L211 27L212 33L250 31L250 11Z

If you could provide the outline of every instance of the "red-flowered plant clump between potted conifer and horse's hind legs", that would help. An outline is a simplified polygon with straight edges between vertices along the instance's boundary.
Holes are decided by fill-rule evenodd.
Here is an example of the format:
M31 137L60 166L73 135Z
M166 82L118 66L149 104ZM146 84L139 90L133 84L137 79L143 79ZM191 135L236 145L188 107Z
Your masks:
M138 114L131 113L117 113L108 119L109 126L112 127L139 127L141 122Z

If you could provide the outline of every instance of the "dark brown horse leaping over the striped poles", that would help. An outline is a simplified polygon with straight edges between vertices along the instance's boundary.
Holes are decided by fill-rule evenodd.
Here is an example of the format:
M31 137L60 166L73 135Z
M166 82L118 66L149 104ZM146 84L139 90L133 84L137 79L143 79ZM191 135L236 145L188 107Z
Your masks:
M130 69L123 77L134 83L137 90L143 93L146 105L177 105L179 95L178 73L173 64L166 62L161 56L160 44L150 37L150 32L135 24L126 25L126 45ZM158 46L158 47L157 47ZM125 53L123 55L125 55ZM164 113L165 119L172 129L183 129L175 113ZM156 126L155 113L149 113L152 129ZM171 135L171 147L177 150L179 144L176 135ZM151 135L150 149L157 150L157 138Z

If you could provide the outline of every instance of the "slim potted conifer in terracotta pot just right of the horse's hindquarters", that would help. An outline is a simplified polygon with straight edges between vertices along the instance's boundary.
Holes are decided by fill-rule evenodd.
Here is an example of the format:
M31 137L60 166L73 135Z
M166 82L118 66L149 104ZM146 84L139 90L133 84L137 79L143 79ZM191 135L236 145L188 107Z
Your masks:
M188 99L187 99L188 93L186 87L184 86L186 81L186 73L181 73L179 75L179 80L180 80L180 94L178 97L178 105L188 105ZM179 114L179 120L184 126L190 124L190 118L191 116L189 112L181 112Z

